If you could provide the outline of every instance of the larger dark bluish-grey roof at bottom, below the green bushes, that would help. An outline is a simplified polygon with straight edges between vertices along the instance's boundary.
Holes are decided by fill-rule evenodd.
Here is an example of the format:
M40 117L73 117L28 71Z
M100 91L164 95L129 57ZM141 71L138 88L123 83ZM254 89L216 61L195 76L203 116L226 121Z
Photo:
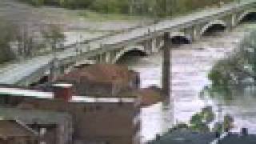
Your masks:
M214 133L198 133L190 130L174 130L149 144L208 144L214 141Z

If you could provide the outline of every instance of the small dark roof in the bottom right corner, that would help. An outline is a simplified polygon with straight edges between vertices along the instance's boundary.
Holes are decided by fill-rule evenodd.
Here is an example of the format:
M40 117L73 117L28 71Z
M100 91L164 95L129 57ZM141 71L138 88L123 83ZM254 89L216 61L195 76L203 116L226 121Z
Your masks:
M219 144L255 144L256 134L242 136L240 134L229 134Z

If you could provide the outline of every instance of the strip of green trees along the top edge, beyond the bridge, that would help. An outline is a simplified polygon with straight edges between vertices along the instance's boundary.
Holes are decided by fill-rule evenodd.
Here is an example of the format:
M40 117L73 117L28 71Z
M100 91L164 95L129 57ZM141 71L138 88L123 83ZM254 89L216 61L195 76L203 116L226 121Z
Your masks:
M21 0L34 6L89 9L100 13L172 16L234 0Z

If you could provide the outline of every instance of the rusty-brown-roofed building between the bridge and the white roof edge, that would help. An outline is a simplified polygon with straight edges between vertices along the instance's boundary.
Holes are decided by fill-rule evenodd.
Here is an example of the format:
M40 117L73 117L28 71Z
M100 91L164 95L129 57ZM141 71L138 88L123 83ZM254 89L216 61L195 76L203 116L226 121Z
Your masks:
M90 74L86 75L88 73L86 70L83 71L84 74L80 74L81 71L77 71L79 74L73 74L74 72L71 72L59 78L58 81L74 84L74 91L77 92L77 95L93 95L99 97L106 97L106 94L108 94L108 97L116 97L123 90L137 90L140 87L139 73L132 70L124 69L121 72L119 71L119 73L117 72L118 70L114 70L118 73L117 76L114 76L115 74L112 73L107 75L107 73L106 78L104 78L104 75L101 75L102 78L94 78L88 76Z

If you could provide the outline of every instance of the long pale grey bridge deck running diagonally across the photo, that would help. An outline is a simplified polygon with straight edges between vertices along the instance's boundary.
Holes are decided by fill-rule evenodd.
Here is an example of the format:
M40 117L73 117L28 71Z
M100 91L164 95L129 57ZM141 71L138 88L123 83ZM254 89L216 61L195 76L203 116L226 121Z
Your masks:
M87 44L79 45L79 49L82 50L84 57L91 56L97 53L102 53L102 51L109 49L120 48L120 46L125 46L126 44L140 41L143 38L149 38L152 32L155 34L161 34L166 30L177 30L182 26L190 26L195 22L206 21L207 18L213 18L218 14L230 13L234 10L240 8L242 9L243 6L248 6L252 2L255 1L246 0L241 2L239 5L229 4L222 6L222 8L209 8L207 10L194 12L193 14L171 20L163 20L162 22L158 22L157 24L151 26L136 28L123 34L116 34L114 36L109 36L107 38L102 38ZM77 53L75 46L57 53L58 59L60 60L75 58L76 55ZM0 68L0 83L16 84L17 82L29 77L31 74L36 73L43 67L49 66L52 60L53 54L47 54L45 56L31 58L22 62L14 62L7 66L3 66Z

